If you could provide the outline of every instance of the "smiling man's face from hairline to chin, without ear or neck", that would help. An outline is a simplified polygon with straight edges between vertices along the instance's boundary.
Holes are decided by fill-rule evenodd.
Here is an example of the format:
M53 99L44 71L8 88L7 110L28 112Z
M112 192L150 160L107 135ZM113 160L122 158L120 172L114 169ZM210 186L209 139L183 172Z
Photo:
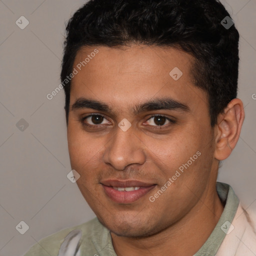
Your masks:
M73 67L93 49L80 50ZM183 51L143 45L97 50L72 78L71 167L103 225L122 236L153 234L196 209L215 187L207 95L193 85L192 57ZM180 77L177 69L169 74L175 67Z

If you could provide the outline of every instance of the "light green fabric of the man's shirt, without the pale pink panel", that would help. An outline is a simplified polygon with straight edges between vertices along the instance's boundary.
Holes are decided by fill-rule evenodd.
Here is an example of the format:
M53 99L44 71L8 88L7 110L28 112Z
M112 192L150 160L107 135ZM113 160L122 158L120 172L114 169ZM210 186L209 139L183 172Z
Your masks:
M231 186L217 182L216 190L221 202L225 205L224 210L212 233L194 256L213 256L216 254L226 235L222 231L221 226L226 221L231 223L237 210L239 199ZM73 229L81 229L82 231L80 245L81 256L116 256L110 231L96 217L81 225L63 229L41 239L24 256L57 256L65 236Z

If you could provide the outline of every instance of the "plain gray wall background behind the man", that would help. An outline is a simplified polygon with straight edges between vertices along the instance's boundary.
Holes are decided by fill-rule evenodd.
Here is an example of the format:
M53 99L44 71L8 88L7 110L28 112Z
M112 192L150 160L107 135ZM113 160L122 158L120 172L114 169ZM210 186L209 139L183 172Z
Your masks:
M229 183L244 207L255 212L256 0L222 2L240 33L238 97L244 102L246 117L218 180ZM71 167L64 92L46 98L60 83L64 22L83 3L0 0L1 256L23 255L42 237L94 216L76 184L66 177ZM15 24L22 15L29 21L24 29ZM21 118L28 123L23 131L16 126ZM15 228L21 220L29 226L24 234Z

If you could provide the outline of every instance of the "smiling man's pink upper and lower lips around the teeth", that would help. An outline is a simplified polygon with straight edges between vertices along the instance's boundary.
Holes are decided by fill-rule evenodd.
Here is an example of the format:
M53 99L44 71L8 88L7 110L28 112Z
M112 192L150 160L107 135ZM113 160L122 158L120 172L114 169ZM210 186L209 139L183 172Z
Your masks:
M114 180L108 179L101 182L105 194L114 202L118 203L131 203L145 194L147 194L151 189L153 189L156 184L146 183L138 180ZM118 191L113 188L115 187L131 187L139 186L140 188L133 191Z

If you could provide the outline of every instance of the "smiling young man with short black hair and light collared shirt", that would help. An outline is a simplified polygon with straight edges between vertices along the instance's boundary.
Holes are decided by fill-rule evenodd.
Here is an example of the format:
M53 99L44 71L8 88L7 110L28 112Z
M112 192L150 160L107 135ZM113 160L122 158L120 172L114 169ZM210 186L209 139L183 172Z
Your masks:
M68 150L96 218L25 255L256 255L252 221L216 183L244 119L222 4L91 0L66 29Z

